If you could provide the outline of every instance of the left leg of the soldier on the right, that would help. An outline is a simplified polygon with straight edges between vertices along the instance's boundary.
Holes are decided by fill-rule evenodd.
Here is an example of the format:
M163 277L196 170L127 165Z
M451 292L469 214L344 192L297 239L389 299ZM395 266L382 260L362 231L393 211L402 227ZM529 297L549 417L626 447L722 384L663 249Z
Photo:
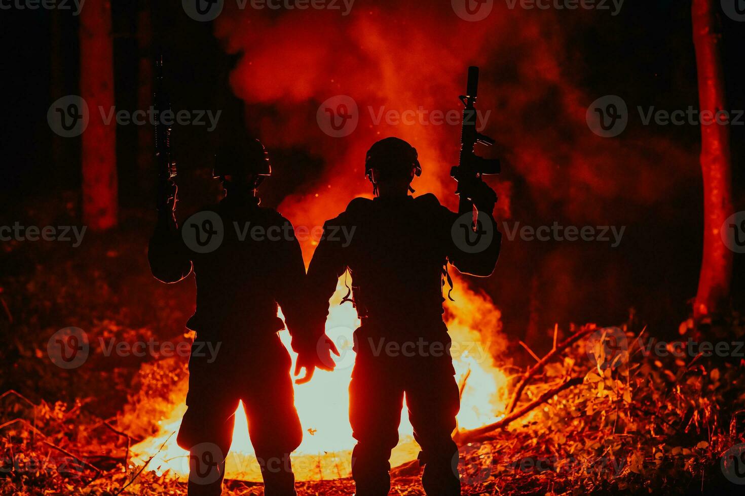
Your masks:
M357 439L352 477L357 496L385 496L390 490L390 451L399 442L404 391L395 370L355 365L349 383L349 422Z

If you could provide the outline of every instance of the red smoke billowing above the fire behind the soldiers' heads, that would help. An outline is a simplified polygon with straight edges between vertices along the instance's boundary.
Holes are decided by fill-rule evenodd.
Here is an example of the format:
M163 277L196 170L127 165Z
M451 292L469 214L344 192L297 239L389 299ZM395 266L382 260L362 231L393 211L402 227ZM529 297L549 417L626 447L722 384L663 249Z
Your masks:
M604 199L633 192L644 204L664 196L660 188L669 183L656 177L673 170L659 160L674 150L664 144L627 149L620 139L590 132L586 109L602 94L573 84L577 71L586 68L562 50L566 28L552 13L495 4L483 21L467 22L450 2L387 3L355 4L349 16L339 10L274 13L247 7L219 19L217 34L226 49L244 54L232 74L235 93L270 109L256 122L262 138L269 146L306 146L328 164L326 176L304 192L319 193L317 199L306 202L297 193L283 205L302 217L295 222L323 222L353 195L370 193L361 167L364 152L388 135L419 149L425 173L414 187L453 205L448 170L457 159L458 127L375 126L369 109L460 110L457 95L465 90L468 65L482 67L478 106L492 111L485 133L500 144L486 153L501 155L504 168L513 168L505 175L522 175L539 213L555 214L558 202L569 219L593 220L603 216L598 202ZM329 137L316 123L320 103L337 94L349 95L359 108L359 125L344 138ZM624 173L614 173L618 167ZM302 210L293 207L297 202ZM589 202L599 208L588 212Z

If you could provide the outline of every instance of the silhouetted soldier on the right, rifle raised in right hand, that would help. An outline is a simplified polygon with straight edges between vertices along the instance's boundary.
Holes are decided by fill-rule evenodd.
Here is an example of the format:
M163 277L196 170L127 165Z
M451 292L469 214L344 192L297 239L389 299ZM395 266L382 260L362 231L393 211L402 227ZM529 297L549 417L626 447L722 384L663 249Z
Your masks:
M422 451L427 495L460 495L458 452L451 434L460 408L443 322L447 264L460 272L492 274L501 244L492 210L494 191L481 183L473 195L481 231L492 239L474 249L468 228L472 212L453 213L432 194L408 193L421 174L416 149L399 138L373 144L365 161L375 199L356 198L325 233L354 227L351 242L324 237L308 268L309 316L323 329L337 279L349 269L353 302L361 319L355 331L355 367L349 384L349 420L357 445L352 477L358 496L390 490L390 452L398 442L406 398L414 438ZM462 219L468 219L463 225ZM490 223L490 226L489 226ZM460 236L465 236L459 239Z

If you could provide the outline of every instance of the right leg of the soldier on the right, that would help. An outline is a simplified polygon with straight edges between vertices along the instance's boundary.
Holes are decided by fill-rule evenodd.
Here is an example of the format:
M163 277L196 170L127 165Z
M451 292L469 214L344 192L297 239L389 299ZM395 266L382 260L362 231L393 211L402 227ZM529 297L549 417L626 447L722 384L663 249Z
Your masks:
M451 437L460 409L460 393L451 368L416 367L406 384L406 404L414 439L422 447L419 460L424 464L425 493L460 495L458 448Z

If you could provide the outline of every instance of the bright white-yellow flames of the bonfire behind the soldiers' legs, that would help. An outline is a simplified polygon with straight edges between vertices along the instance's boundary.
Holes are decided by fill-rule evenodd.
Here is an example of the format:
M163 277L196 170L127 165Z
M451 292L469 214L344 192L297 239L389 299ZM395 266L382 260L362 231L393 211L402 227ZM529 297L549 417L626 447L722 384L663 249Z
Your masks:
M460 413L459 428L475 428L494 422L504 410L507 399L507 376L494 367L489 349L492 343L485 336L499 338L500 312L488 297L476 294L460 277L454 277L454 302L448 302L448 329L453 341L452 355L459 381L467 375ZM319 480L348 477L351 471L352 428L349 427L349 380L355 354L352 352L352 332L359 325L351 304L340 305L346 287L340 279L331 300L326 332L339 347L336 370L317 371L308 384L295 387L295 405L305 429L302 444L292 457L298 480ZM484 332L482 335L477 329ZM279 333L290 349L286 330ZM291 352L293 362L297 358ZM184 381L183 398L186 398ZM142 465L150 457L148 469L162 474L170 470L180 478L188 474L186 451L176 444L176 435L186 405L180 402L167 419L160 422L159 433L133 447L133 465ZM406 408L402 413L406 412ZM399 445L393 450L391 465L396 466L416 458L419 448L413 441L412 428L402 414ZM170 436L170 437L169 437ZM165 445L164 445L165 443ZM159 448L162 445L162 449ZM226 477L261 480L261 472L248 437L247 419L242 405L235 412L235 431L226 464Z

